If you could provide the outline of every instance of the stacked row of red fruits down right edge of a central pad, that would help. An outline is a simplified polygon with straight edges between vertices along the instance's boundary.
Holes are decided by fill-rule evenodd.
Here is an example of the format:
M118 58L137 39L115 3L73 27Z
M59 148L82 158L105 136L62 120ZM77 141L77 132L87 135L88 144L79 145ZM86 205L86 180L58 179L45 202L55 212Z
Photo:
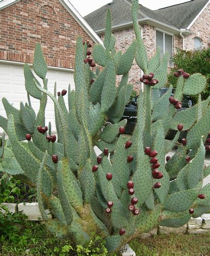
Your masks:
M154 179L162 179L163 178L163 173L159 172L159 170L157 169L158 167L160 167L160 163L158 162L158 158L156 158L156 155L158 155L158 152L156 152L155 150L151 151L150 147L145 147L144 148L144 153L151 157L150 163L152 164L152 177ZM161 182L157 182L154 184L153 188L159 188L161 187Z

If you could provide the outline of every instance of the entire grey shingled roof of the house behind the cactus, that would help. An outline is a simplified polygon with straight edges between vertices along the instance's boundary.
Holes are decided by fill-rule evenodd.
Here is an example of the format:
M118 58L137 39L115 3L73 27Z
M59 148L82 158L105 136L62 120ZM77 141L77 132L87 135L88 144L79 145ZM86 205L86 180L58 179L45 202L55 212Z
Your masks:
M155 11L140 5L138 20L139 22L152 20L159 24L165 24L165 26L174 30L186 29L208 2L209 0L192 0ZM112 27L116 28L121 27L123 24L132 24L131 5L132 0L114 0L112 4L105 5L84 18L96 32L104 30L108 9L111 9L112 12Z

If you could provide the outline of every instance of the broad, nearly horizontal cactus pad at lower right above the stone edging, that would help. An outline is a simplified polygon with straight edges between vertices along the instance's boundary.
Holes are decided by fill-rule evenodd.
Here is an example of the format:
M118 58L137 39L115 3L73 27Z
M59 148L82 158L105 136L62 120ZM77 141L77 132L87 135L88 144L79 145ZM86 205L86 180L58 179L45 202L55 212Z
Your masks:
M197 191L195 189L188 189L168 195L164 202L164 209L171 211L187 210L191 207L196 197Z

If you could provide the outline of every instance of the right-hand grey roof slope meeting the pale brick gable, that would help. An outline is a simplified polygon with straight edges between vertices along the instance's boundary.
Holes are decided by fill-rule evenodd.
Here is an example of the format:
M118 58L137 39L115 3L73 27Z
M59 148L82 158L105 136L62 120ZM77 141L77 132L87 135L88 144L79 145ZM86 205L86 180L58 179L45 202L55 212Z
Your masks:
M208 0L193 0L190 2L169 6L155 10L155 14L164 16L170 23L178 29L188 28L203 7L208 4Z

